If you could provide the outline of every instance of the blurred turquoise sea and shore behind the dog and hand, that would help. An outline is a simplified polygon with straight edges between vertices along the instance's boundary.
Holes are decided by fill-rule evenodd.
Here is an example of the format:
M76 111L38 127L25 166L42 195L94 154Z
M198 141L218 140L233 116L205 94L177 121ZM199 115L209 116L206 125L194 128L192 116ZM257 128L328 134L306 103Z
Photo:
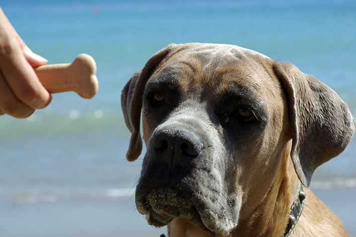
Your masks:
M0 116L0 236L159 236L138 213L142 157L121 90L169 43L224 43L289 61L334 89L356 115L356 1L1 0L27 45L49 64L80 53L97 63L99 90L74 92L26 119ZM311 188L356 236L356 139L319 167Z

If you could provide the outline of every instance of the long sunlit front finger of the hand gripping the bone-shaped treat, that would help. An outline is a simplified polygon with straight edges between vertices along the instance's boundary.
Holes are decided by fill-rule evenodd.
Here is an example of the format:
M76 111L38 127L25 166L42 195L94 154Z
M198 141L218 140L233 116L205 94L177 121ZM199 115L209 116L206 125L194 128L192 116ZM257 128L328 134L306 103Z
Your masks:
M0 71L15 96L32 108L44 108L51 101L18 43L18 34L0 12Z

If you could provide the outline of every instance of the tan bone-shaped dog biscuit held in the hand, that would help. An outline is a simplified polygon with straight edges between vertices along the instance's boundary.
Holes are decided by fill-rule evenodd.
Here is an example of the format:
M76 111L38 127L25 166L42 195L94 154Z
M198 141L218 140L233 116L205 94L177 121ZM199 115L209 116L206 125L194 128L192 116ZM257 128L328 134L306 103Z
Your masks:
M39 66L35 72L50 93L74 91L90 99L98 89L96 64L87 54L79 54L72 63Z

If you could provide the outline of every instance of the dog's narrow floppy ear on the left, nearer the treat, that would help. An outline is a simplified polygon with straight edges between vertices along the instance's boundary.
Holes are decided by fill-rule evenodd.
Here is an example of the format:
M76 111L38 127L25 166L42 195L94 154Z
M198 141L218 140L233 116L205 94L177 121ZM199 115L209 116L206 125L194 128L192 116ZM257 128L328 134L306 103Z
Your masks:
M135 161L142 152L142 139L140 135L140 119L142 109L142 96L146 83L156 68L168 55L179 45L170 44L166 48L154 54L146 63L142 70L134 73L127 82L121 95L121 105L124 112L125 123L130 132L131 140L126 159Z

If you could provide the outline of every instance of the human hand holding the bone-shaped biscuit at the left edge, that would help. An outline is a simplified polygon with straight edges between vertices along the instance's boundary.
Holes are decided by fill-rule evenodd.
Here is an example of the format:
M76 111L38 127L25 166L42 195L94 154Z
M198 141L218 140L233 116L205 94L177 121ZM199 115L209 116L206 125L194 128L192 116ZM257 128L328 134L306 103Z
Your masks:
M27 47L0 8L0 115L28 117L51 102L33 69L46 63Z

